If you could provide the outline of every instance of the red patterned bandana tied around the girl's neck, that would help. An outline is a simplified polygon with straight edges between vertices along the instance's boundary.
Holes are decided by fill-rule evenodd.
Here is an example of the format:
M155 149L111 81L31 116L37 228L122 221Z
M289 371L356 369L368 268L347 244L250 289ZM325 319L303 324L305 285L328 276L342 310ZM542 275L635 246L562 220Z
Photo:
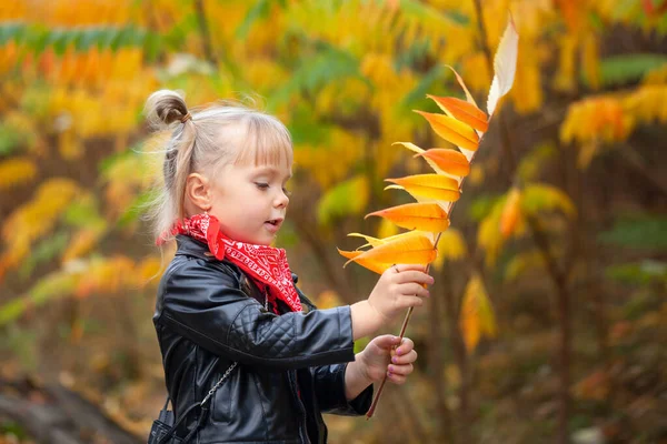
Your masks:
M186 234L207 243L216 259L221 261L227 258L246 272L257 286L268 287L267 296L275 309L275 301L279 299L292 311L301 311L301 301L295 290L283 249L232 241L220 231L218 219L208 213L177 221L171 234ZM160 243L161 240L158 240Z

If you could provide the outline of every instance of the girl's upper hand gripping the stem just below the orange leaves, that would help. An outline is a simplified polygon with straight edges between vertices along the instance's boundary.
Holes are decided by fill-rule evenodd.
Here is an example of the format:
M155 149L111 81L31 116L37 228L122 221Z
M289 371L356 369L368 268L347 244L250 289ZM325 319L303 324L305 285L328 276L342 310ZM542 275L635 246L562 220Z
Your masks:
M390 321L410 306L424 305L424 297L429 296L425 286L435 282L425 270L424 265L398 264L382 273L368 296L381 321Z

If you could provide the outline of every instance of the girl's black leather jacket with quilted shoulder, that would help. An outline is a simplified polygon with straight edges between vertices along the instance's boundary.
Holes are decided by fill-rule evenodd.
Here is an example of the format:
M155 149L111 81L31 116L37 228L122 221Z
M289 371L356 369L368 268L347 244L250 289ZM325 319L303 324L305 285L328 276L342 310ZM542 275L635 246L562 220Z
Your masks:
M175 413L198 403L232 362L197 443L326 443L321 413L360 415L372 385L345 396L345 371L355 360L349 306L276 315L233 264L210 256L185 235L158 289L153 323ZM295 283L297 276L292 275ZM185 421L185 436L199 410Z

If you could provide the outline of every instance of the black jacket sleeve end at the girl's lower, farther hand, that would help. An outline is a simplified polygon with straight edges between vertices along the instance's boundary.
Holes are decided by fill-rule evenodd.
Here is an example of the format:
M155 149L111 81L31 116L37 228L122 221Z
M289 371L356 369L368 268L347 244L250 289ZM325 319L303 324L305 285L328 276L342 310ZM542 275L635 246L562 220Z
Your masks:
M364 415L372 402L372 384L354 400L345 396L345 372L347 363L321 365L312 367L315 382L315 396L322 413L335 415L357 416Z

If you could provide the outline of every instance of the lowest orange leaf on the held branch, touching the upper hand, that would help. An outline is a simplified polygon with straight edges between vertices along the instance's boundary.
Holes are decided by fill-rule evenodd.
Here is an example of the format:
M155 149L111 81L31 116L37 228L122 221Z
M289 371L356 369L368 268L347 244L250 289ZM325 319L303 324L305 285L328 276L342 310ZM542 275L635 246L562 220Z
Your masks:
M430 233L410 232L409 235L396 238L390 242L367 250L349 262L371 261L376 264L406 263L425 265L432 262L436 256L437 252Z

